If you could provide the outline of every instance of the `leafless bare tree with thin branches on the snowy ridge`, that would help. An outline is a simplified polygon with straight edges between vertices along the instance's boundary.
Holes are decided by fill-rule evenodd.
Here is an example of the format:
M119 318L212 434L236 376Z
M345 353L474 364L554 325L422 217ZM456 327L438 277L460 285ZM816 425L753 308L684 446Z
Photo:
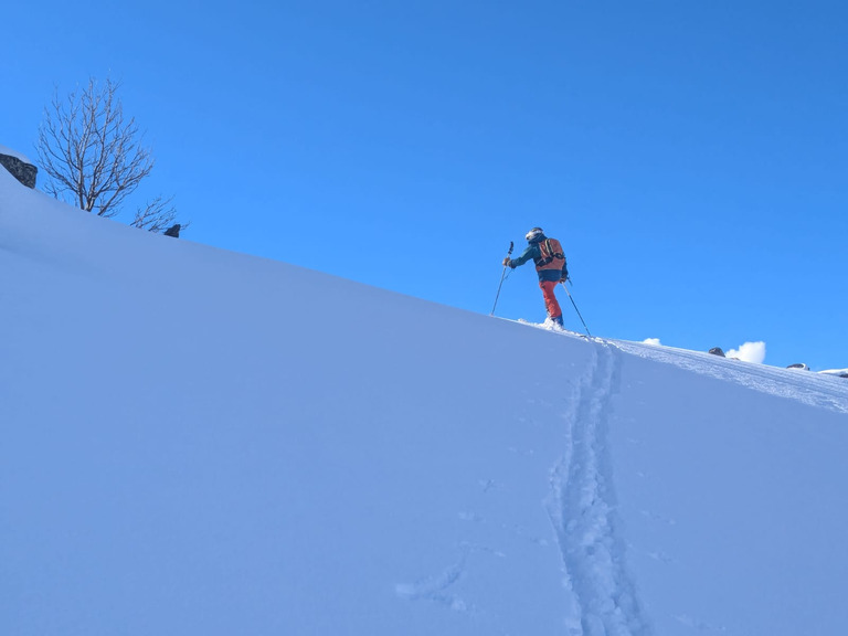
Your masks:
M39 160L49 177L44 190L106 218L120 213L126 198L153 169L135 118L124 116L119 87L109 78L103 85L89 78L64 100L54 93L39 128ZM161 231L176 216L170 202L157 197L130 224Z

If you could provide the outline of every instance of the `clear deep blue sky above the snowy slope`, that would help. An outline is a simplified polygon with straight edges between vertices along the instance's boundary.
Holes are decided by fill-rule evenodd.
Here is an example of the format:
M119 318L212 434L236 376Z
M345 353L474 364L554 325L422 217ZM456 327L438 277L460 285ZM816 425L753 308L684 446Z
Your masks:
M121 81L157 159L139 198L173 194L187 240L488 314L506 247L541 225L595 335L848 365L845 2L2 14L0 144L34 158L54 86ZM531 265L497 314L542 320Z

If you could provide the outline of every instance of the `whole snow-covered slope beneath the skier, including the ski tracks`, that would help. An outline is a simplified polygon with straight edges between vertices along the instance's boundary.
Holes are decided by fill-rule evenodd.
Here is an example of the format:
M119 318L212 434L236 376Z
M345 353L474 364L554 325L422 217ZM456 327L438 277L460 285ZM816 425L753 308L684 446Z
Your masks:
M0 633L848 629L848 381L490 318L0 169Z

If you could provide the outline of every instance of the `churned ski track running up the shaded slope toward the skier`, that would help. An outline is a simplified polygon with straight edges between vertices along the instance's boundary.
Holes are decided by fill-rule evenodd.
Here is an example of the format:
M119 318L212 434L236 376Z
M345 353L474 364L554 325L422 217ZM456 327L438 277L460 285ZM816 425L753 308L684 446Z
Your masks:
M569 443L551 471L548 512L556 532L573 606L569 636L645 636L646 621L624 566L606 431L621 353L595 343L575 386Z

